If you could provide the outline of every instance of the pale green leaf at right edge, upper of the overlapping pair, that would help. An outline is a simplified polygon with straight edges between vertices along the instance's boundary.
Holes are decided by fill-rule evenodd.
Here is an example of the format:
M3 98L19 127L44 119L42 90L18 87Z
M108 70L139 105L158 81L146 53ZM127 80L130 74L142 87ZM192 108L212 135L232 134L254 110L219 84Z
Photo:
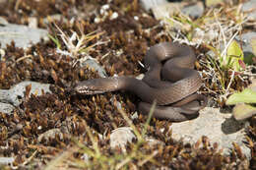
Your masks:
M225 104L256 103L256 91L245 88L242 92L234 93L228 97Z

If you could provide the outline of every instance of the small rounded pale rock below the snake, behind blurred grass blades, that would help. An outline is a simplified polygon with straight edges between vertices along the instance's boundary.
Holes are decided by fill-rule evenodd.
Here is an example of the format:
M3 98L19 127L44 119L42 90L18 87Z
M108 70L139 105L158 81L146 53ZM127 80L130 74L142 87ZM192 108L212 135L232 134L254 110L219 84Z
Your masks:
M130 127L117 128L110 134L110 147L115 148L116 146L119 146L126 152L126 143L132 142L133 139L136 139L136 137Z

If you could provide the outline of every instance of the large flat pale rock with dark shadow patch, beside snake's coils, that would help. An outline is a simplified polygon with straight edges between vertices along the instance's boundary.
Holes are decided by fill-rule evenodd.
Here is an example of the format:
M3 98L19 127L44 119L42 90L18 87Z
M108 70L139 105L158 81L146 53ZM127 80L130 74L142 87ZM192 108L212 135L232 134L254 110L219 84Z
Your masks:
M229 154L232 148L232 142L237 143L243 154L250 159L250 149L246 146L245 131L247 126L245 122L237 122L232 118L231 113L221 113L217 108L206 107L200 111L197 119L172 123L172 138L175 141L183 139L183 142L194 144L202 136L209 138L209 141L217 142L219 149L224 149L224 155Z

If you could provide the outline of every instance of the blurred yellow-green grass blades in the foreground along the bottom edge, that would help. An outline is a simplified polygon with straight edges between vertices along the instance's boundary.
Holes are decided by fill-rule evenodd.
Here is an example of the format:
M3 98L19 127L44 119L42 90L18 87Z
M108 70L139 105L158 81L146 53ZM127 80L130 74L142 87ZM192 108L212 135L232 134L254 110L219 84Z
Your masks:
M57 158L53 159L51 162L47 164L44 170L50 169L129 169L129 167L133 167L133 169L139 169L147 162L152 162L154 164L159 164L155 160L155 156L159 154L160 149L152 150L151 153L145 153L145 150L141 149L141 146L146 143L145 137L147 133L147 129L149 127L153 111L156 107L156 102L153 104L152 109L150 111L147 122L144 124L144 128L142 133L136 128L136 126L129 119L128 115L123 111L122 108L119 108L119 112L128 125L132 128L133 133L136 136L137 142L130 143L131 150L129 152L118 151L113 148L113 154L109 155L108 152L102 150L98 145L98 137L96 133L93 133L88 125L86 126L87 134L92 142L92 145L86 145L82 142L79 142L77 139L74 139L75 145L68 148L66 151L61 153ZM86 122L84 122L86 124ZM95 131L94 131L95 132ZM95 134L95 135L93 135ZM80 158L75 158L73 155L75 153L80 153L82 156ZM83 160L84 158L84 160ZM134 163L136 162L136 163Z

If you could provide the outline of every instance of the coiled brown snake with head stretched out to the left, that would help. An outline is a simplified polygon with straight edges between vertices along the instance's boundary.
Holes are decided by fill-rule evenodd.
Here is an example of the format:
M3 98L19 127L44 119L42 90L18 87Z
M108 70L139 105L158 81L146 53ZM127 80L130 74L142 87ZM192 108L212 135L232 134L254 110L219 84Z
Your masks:
M94 95L125 90L136 94L141 101L138 109L149 114L157 103L153 117L182 122L199 116L206 106L206 97L197 91L202 85L194 70L196 56L193 49L178 42L160 42L146 52L147 72L142 80L131 76L107 77L82 81L74 85L77 94Z

